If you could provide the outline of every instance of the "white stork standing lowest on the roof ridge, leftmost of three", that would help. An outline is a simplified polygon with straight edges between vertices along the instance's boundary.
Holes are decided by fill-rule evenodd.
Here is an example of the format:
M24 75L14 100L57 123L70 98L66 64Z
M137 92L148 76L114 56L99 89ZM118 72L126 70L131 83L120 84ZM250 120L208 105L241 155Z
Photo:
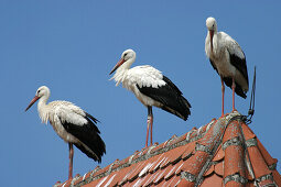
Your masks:
M68 179L71 179L73 178L73 144L98 163L106 153L106 145L99 136L97 119L68 101L58 100L46 105L50 89L46 86L40 87L25 111L39 100L37 110L42 122L47 124L50 121L58 136L68 143Z

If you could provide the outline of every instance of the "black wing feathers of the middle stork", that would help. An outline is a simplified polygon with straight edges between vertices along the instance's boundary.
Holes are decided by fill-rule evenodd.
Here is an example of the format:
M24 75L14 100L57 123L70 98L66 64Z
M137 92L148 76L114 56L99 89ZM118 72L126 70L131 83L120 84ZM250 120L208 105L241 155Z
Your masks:
M187 120L187 117L191 114L191 105L182 96L181 90L165 76L163 80L166 82L164 86L153 88L152 86L140 87L137 85L141 94L161 102L163 105L162 109L171 112L183 120Z

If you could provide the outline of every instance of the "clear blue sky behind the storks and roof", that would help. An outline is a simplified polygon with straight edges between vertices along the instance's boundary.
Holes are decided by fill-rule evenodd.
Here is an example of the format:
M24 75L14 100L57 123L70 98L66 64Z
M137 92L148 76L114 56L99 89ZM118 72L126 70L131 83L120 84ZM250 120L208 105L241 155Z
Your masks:
M147 109L108 75L127 48L137 52L132 66L163 72L192 105L183 121L154 108L154 142L182 135L220 116L220 80L205 52L205 20L241 45L250 82L257 65L252 131L280 160L280 1L0 1L1 186L52 186L68 176L68 146L42 124L36 106L25 107L46 85L52 100L72 101L101 121L107 145L101 167L141 150ZM251 87L251 85L250 85ZM248 94L248 96L250 96ZM237 97L239 112L249 99ZM226 89L225 110L231 110ZM75 148L74 174L97 166ZM280 170L280 165L278 165Z

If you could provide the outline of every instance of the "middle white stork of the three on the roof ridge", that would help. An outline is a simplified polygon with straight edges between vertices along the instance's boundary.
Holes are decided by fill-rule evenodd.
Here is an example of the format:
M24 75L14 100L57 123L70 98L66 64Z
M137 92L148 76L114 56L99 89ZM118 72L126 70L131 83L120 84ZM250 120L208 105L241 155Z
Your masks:
M187 117L191 114L191 105L182 96L180 89L167 77L163 76L160 70L149 65L130 68L134 61L134 51L125 51L121 55L121 59L109 75L117 70L111 78L116 80L116 86L122 82L125 88L132 91L136 97L148 107L145 141L145 146L148 146L149 131L151 138L150 143L152 144L152 106L173 113L183 120L187 120Z

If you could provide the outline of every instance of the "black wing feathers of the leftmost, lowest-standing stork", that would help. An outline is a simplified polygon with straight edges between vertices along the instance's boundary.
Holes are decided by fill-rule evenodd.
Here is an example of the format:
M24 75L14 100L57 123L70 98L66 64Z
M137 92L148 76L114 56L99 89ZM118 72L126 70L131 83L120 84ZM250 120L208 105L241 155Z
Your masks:
M62 122L62 120L61 122L68 133L74 135L83 143L75 143L75 146L88 157L100 163L101 156L106 153L106 145L99 135L100 132L98 128L95 124L98 120L88 113L86 113L85 118L87 119L87 123L83 125L68 123L66 121Z

